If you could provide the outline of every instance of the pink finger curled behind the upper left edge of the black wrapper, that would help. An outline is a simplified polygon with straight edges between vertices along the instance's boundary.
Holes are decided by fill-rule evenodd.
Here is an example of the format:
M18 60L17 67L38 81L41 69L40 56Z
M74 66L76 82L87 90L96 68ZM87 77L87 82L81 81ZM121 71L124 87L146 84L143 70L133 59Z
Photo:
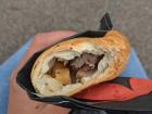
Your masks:
M48 46L51 46L64 38L73 36L75 34L76 34L75 31L71 31L71 30L58 30L58 31L43 33L43 34L36 35L34 40L31 41L27 52L21 60L21 62L17 66L17 69L20 69L35 52L37 52Z

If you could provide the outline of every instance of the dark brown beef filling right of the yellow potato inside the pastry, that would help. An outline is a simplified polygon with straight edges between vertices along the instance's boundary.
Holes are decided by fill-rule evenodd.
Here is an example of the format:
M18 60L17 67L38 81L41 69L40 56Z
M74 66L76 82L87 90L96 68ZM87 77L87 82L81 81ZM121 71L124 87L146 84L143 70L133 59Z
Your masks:
M80 56L69 61L67 67L71 71L72 83L76 83L77 77L92 74L97 68L99 61L103 59L103 56L104 54L96 55L84 52Z

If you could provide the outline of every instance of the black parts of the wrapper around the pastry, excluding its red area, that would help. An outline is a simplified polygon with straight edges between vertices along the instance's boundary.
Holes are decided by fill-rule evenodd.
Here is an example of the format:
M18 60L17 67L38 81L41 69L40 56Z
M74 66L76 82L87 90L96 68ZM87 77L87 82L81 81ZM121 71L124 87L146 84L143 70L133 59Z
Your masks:
M68 40L72 38L77 38L77 37L91 37L91 38L103 37L106 34L106 31L112 29L112 27L113 27L113 25L112 25L110 15L109 15L109 13L105 13L105 15L100 21L100 30L96 30L96 31L94 30L87 30L87 31L84 31L80 34L76 34L76 35L68 37L68 38L61 40L61 41L65 41L65 40ZM101 102L98 102L94 104L89 104L87 101L78 100L78 99L74 99L74 98L69 98L69 97L64 97L64 96L54 96L54 97L46 97L46 98L40 98L40 97L36 96L36 91L31 85L31 81L30 81L30 72L31 72L31 67L33 67L35 61L37 60L37 58L48 48L35 53L28 60L28 62L24 65L24 67L18 72L17 77L16 77L17 84L27 92L28 97L31 100L60 105L62 107L74 109L77 111L84 110L84 109L89 110L89 111L90 110L91 111L104 110L110 114L112 112L113 112L113 114L129 114L129 113L123 113L123 111L131 111L131 112L132 111L135 111L135 112L152 111L152 93L148 94L148 96L138 97L137 99L123 101L123 102L101 101ZM122 79L121 81L128 80L127 78L121 78L121 79ZM122 112L122 113L118 113L118 112ZM88 113L86 113L86 114L88 114ZM98 113L96 113L96 114L98 114ZM136 114L136 113L132 113L132 114Z

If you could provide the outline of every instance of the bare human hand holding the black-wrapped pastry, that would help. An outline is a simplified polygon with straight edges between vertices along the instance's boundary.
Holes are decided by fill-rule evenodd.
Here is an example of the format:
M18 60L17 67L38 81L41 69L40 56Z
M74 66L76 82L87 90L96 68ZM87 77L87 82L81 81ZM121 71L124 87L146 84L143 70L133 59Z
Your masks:
M17 86L16 75L35 52L74 34L76 33L59 30L35 36L25 55L11 75L8 114L67 114L69 112L68 109L30 100L26 92Z

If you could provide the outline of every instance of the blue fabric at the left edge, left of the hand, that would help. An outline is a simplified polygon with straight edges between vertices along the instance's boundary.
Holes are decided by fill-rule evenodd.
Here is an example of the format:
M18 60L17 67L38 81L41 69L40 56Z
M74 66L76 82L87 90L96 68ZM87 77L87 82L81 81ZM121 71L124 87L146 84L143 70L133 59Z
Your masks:
M29 45L30 45L30 40L27 41L16 53L14 53L0 66L0 114L7 114L9 81L10 81L11 73L18 64L20 60L26 52Z

